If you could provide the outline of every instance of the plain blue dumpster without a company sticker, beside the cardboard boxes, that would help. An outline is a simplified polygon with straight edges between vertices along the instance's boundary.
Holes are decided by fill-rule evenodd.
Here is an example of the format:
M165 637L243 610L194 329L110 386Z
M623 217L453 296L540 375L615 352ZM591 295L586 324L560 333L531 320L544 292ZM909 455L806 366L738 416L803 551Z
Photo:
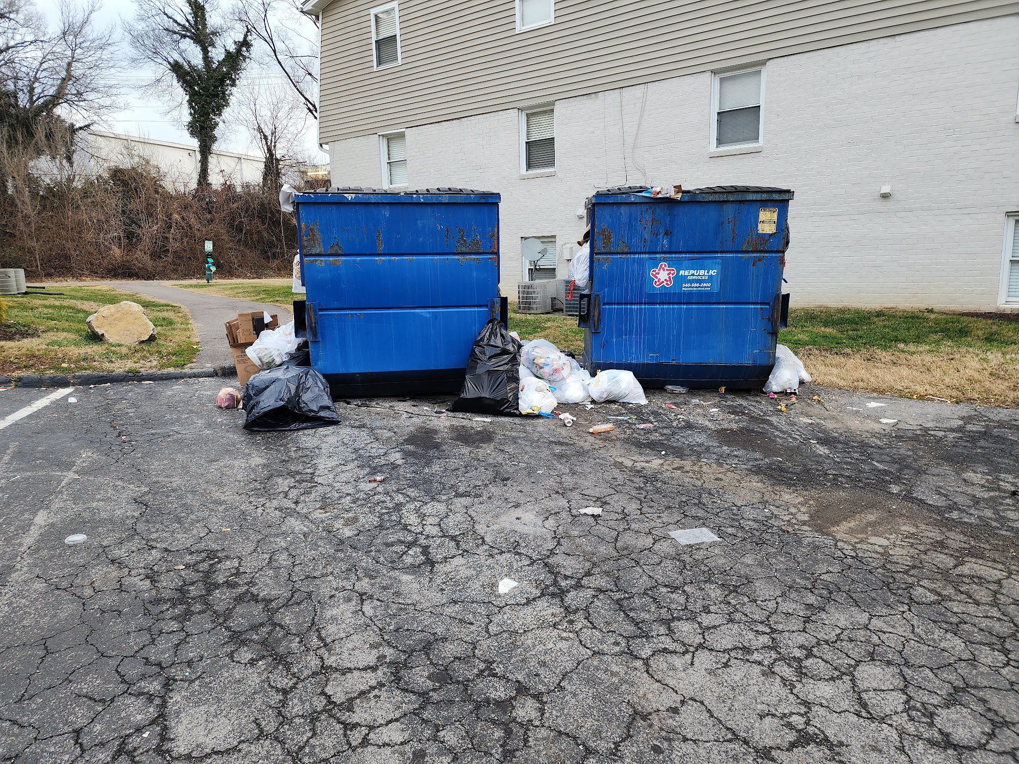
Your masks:
M459 392L499 313L497 194L296 197L312 366L334 395Z

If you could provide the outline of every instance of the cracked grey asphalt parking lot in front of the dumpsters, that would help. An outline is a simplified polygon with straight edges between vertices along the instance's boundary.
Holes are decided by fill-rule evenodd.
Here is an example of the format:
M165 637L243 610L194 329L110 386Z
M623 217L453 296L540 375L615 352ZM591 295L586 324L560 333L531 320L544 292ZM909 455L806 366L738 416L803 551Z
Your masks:
M252 434L219 386L0 431L0 761L1017 761L1015 412L384 398Z

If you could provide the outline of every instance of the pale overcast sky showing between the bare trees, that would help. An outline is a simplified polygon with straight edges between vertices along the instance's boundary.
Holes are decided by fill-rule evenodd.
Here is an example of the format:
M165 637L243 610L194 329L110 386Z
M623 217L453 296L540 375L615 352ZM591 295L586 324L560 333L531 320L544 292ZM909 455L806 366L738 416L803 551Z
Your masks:
M102 0L102 2L103 5L97 18L103 25L113 25L119 29L123 20L129 19L135 14L133 0ZM50 18L58 17L57 0L36 0L36 4ZM168 113L166 106L158 99L141 91L140 86L151 80L152 72L135 68L130 63L127 63L128 53L126 50L123 51L121 58L125 61L123 69L113 79L123 88L119 100L123 103L124 108L104 116L97 123L97 127L111 132L123 132L194 146L195 140L187 134L182 123L178 121L181 117L185 118L185 115ZM267 81L281 78L281 75L271 70L250 71L244 77L248 81ZM259 154L246 130L226 129L221 130L221 132L222 137L216 144L217 149ZM311 153L310 156L318 162L327 162L326 155L317 149L317 130L313 122L308 123L306 132L303 143Z

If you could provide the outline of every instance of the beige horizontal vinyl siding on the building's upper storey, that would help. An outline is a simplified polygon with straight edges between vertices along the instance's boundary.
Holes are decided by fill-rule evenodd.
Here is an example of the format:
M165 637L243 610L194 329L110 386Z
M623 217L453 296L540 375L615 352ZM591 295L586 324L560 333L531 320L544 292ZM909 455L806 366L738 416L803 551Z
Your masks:
M554 23L518 33L514 0L400 0L401 63L375 71L376 2L323 11L323 142L1019 12L1015 0L556 0Z

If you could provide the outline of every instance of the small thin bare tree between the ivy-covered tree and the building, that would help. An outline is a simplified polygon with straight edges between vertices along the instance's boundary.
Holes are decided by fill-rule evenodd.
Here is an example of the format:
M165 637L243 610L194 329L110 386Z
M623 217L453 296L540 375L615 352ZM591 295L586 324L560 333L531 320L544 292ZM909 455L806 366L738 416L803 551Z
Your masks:
M300 161L300 139L308 121L304 105L285 85L248 85L238 92L236 114L265 157L262 187L278 190L284 167Z

